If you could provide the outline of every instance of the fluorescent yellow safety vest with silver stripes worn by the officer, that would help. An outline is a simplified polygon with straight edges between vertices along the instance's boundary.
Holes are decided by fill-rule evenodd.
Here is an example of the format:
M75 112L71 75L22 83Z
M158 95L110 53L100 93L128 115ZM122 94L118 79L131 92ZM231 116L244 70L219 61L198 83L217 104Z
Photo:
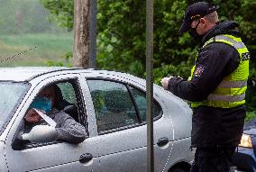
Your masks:
M249 51L242 42L241 38L234 37L232 35L224 34L218 35L206 41L203 48L213 42L222 42L230 46L233 46L240 55L240 64L233 73L224 77L223 81L215 88L215 90L207 96L203 102L191 102L191 107L198 107L200 105L232 108L245 103L245 91L247 88L247 79L249 76ZM196 66L191 69L190 79L193 77L193 73Z

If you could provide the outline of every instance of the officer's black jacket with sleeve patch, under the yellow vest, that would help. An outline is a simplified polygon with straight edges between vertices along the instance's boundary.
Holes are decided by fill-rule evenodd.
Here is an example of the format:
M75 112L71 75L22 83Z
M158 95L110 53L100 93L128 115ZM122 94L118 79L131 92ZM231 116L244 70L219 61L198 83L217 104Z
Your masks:
M202 48L210 38L220 34L240 37L235 29L237 23L218 23L203 37L199 46L196 68L191 81L180 77L169 80L169 91L192 102L206 100L223 78L238 67L240 56L232 46L213 42ZM192 147L233 147L242 136L245 107L224 109L199 106L193 109Z

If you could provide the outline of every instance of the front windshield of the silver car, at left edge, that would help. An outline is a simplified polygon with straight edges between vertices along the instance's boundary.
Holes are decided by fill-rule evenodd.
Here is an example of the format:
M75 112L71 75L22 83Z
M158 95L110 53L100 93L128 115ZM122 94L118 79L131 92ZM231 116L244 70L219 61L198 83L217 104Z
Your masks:
M29 85L24 83L0 82L0 131L23 100L28 88Z

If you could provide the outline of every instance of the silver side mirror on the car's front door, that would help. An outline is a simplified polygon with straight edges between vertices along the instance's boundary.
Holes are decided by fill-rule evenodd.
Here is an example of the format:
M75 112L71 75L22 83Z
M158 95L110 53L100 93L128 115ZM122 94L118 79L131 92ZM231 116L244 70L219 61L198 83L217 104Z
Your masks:
M23 133L22 140L34 143L50 142L57 139L57 131L49 125L36 125L29 133Z

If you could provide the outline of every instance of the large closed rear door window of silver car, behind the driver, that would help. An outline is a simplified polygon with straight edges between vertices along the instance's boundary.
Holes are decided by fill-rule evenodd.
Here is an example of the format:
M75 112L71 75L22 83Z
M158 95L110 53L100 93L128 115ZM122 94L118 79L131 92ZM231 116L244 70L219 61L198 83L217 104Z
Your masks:
M138 123L133 100L126 86L105 80L87 80L87 83L99 132Z

